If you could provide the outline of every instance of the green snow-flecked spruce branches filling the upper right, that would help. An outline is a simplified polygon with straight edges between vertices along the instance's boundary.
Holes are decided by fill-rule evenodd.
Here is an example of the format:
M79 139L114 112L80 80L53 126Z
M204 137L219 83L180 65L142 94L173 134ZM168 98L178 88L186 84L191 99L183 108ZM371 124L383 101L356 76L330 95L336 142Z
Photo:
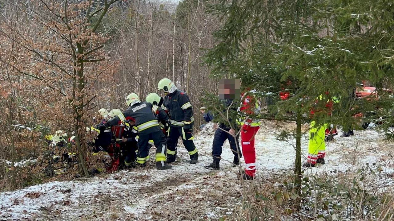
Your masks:
M382 90L383 83L391 86L393 79L391 3L222 3L210 7L226 21L215 33L219 43L205 61L214 77L239 77L244 87L260 92L289 91L290 99L276 99L272 104L275 108L271 110L277 110L276 119L295 120L296 115L289 117L289 113L314 109L318 111L308 118L318 123L354 128L359 125L355 114L372 112L376 107L392 109L392 97ZM290 85L286 84L288 80ZM352 92L364 80L377 87L380 99L354 99ZM316 102L320 95L324 99ZM327 109L326 101L334 96L340 102L333 105L333 110Z

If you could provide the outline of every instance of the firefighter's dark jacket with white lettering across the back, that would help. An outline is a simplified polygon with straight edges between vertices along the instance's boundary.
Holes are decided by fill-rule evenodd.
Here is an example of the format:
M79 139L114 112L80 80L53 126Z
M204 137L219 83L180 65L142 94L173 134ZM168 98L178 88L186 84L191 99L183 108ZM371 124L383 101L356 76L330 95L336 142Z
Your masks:
M156 105L152 105L147 102L135 103L128 109L126 109L121 116L116 116L109 122L105 124L105 126L113 126L116 125L119 120L122 122L126 121L126 118L130 117L134 122L136 122L136 127L138 129L139 135L145 135L150 133L156 133L160 131L159 122L156 120L156 116L153 114L153 108L157 107ZM163 112L164 110L161 108L158 109L159 112Z

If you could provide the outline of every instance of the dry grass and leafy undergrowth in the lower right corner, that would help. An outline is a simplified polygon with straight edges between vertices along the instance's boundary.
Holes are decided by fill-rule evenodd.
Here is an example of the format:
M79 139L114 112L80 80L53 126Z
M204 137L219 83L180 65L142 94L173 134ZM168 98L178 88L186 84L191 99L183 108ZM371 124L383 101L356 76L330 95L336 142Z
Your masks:
M301 196L289 181L293 175L286 172L245 182L240 205L219 220L394 220L393 180L381 173L379 165L367 163L357 171L307 172ZM301 205L297 211L298 197Z

